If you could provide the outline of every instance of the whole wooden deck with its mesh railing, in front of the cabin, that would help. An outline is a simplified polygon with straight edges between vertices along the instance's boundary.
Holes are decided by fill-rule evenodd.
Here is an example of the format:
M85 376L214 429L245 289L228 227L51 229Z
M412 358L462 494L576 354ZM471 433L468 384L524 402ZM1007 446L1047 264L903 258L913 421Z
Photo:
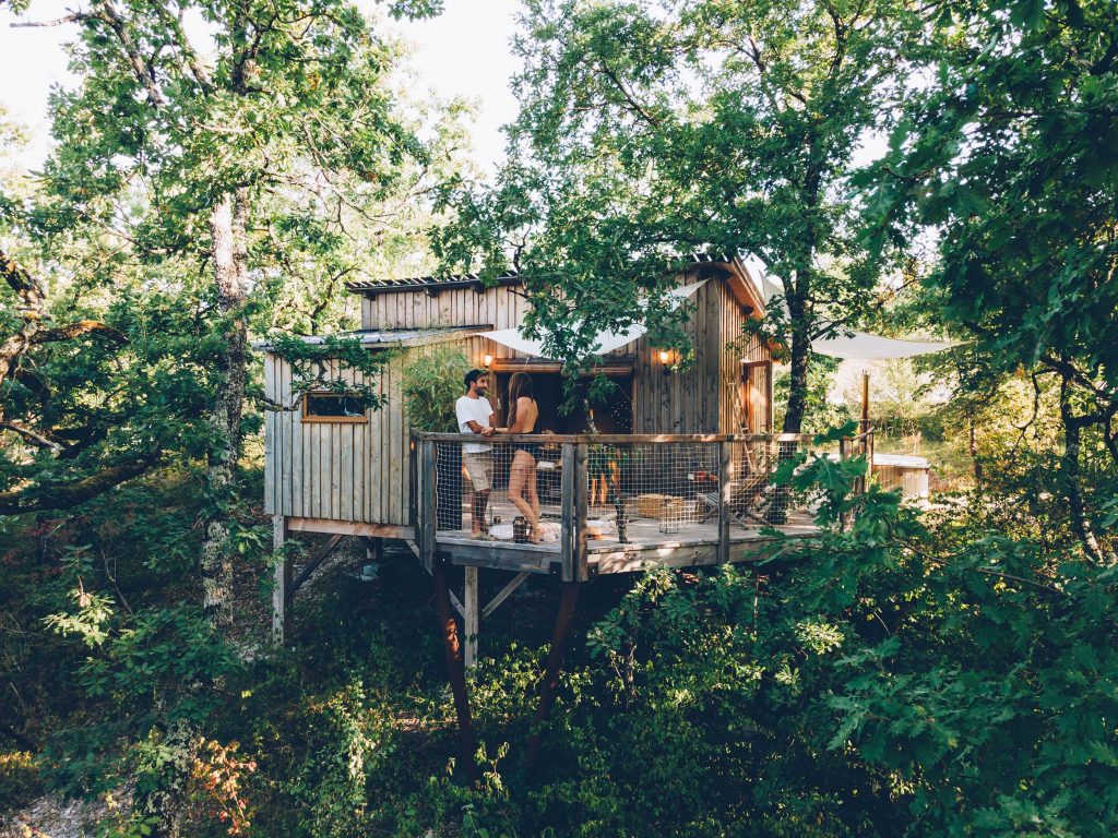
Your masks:
M477 537L468 528L473 495L458 459L461 445L475 439L474 435L417 435L415 542L427 568L437 555L467 568L517 573L558 570L563 581L586 581L650 565L759 561L785 549L773 530L799 537L816 532L813 501L771 483L780 461L797 450L811 453L815 445L811 435L553 435L548 445L558 457L549 458L553 465L550 476L541 477L539 494L544 521L557 524L558 541L512 541L509 525L518 513L496 474L501 469L495 469L489 512L509 532L503 540ZM539 439L505 437L502 444ZM839 442L840 458L863 455L872 463L872 430ZM616 464L609 499L604 464ZM601 498L597 502L595 479ZM855 486L861 491L864 480ZM627 518L625 543L616 528L600 532L596 525L598 520L613 520L618 503ZM777 504L786 511L785 518L773 526L766 523L767 511ZM669 515L678 530L662 528L661 518Z

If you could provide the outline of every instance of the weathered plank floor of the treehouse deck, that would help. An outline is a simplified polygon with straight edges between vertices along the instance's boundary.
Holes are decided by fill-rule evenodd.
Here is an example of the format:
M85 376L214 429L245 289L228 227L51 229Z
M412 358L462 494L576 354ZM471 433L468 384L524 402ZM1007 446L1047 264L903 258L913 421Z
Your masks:
M511 522L517 511L508 499L496 499L491 512L502 522ZM542 506L543 520L560 524L561 510L557 505ZM608 508L588 511L588 523L593 526L597 516L609 513ZM462 521L470 523L468 503L463 504ZM628 543L617 540L612 533L603 537L587 539L587 565L591 575L603 573L628 573L648 566L690 568L718 564L718 520L700 523L683 521L679 532L663 533L655 518L633 517L628 522ZM773 554L774 539L764 534L762 524L743 526L733 522L730 526L730 562L759 561ZM774 527L786 535L806 536L817 531L812 516L806 511L794 511L788 521ZM559 541L543 544L519 544L509 540L473 536L468 530L440 530L436 533L436 551L446 554L454 564L477 568L494 568L529 573L551 573L558 571L562 562Z

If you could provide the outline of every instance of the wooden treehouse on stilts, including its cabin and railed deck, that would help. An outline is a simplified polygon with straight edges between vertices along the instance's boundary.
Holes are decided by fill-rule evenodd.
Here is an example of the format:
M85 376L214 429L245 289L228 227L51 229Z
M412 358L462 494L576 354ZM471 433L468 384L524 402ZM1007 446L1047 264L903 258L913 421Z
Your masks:
M767 554L773 526L813 531L809 499L770 484L775 464L811 437L773 434L770 347L742 328L762 316L764 296L759 277L741 259L695 257L678 277L673 294L681 304L688 301L692 364L679 366L642 326L599 335L593 372L610 387L595 388L589 410L571 413L560 410L560 364L541 358L540 344L519 331L528 305L520 277L489 285L456 276L348 287L361 296L361 328L352 336L368 352L394 350L368 382L382 407L364 409L344 389L297 392L292 363L264 347L266 394L283 407L268 415L265 429L265 507L274 516L275 541L282 544L291 532L329 533L331 544L356 535L370 539L376 550L383 539L401 539L433 573L463 565L463 597L448 598L465 621L467 664L481 617L529 574L582 582L648 564L748 561ZM508 413L509 377L528 372L538 425L550 431L489 440L492 489L481 512L462 466L463 444L479 438L414 431L405 409L405 370L442 345L489 370L499 425ZM340 363L325 365L328 378L354 390L366 383ZM870 439L863 434L839 454L869 453ZM546 536L539 543L518 530L519 511L509 499L518 444L534 451L533 488L548 524L539 527ZM479 569L512 574L484 609ZM277 569L281 636L286 603L306 572L293 581L290 565Z

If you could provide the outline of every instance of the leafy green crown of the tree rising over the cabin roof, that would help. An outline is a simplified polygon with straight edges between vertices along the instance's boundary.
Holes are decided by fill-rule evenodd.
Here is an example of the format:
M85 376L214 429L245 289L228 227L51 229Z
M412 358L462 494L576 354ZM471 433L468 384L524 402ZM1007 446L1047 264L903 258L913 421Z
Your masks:
M862 139L890 127L922 60L911 4L532 0L515 42L521 109L491 188L447 187L444 264L506 266L548 354L642 318L690 351L665 296L697 251L761 257L783 283L766 334L794 360L803 419L811 340L853 323L883 270L850 189Z

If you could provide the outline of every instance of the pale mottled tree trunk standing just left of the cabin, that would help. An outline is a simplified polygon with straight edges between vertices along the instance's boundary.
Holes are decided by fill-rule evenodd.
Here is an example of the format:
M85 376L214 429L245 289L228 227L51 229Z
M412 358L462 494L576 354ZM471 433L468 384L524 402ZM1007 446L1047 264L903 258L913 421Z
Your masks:
M225 510L234 488L234 469L240 453L240 417L245 402L247 327L245 324L245 225L248 191L225 196L210 212L214 238L214 283L224 318L225 349L218 359L221 378L210 412L212 441L207 472L209 510L201 551L202 608L215 625L233 619L233 555Z

